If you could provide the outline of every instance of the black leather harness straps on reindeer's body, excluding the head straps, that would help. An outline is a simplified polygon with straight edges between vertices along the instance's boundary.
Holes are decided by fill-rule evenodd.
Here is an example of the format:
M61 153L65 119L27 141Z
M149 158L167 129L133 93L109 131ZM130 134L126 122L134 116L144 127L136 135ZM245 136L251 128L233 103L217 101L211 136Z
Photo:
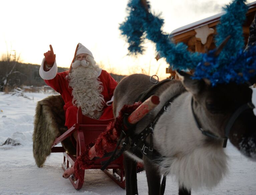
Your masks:
M142 94L139 95L139 97L135 100L135 102L143 102L145 101L147 98L149 98L150 96L152 96L157 88L159 88L160 86L162 86L163 84L170 82L171 79L165 79L161 82L157 82L156 85L152 86L151 88L149 88L147 91L143 92ZM165 112L168 111L166 108L171 105L172 101L177 98L180 94L175 95L174 97L171 97L162 107L162 109L158 112L158 114L156 115L156 117L154 118L154 120L145 128L143 129L139 134L135 134L135 127L136 124L131 124L128 122L128 117L129 115L126 114L123 120L123 125L122 125L122 131L120 133L120 137L117 141L116 144L116 148L114 151L109 152L107 154L105 154L103 157L108 157L110 156L110 158L105 161L102 162L103 166L101 167L101 170L106 169L106 167L108 166L108 164L115 160L116 158L118 158L124 151L126 145L131 145L130 149L132 150L132 152L138 156L139 158L143 158L143 155L146 155L151 161L158 163L159 161L161 161L160 157L161 154L154 149L154 144L153 144L153 130L154 130L154 126L156 124L156 122L158 121L159 117ZM124 130L124 126L126 127L126 130ZM146 142L146 138L150 135L150 143ZM117 149L118 146L121 143L121 140L124 138L124 141L122 143L122 148ZM130 140L130 139L131 140ZM165 186L166 186L166 175L163 176L162 179L162 183L161 183L161 195L164 195L165 192Z

